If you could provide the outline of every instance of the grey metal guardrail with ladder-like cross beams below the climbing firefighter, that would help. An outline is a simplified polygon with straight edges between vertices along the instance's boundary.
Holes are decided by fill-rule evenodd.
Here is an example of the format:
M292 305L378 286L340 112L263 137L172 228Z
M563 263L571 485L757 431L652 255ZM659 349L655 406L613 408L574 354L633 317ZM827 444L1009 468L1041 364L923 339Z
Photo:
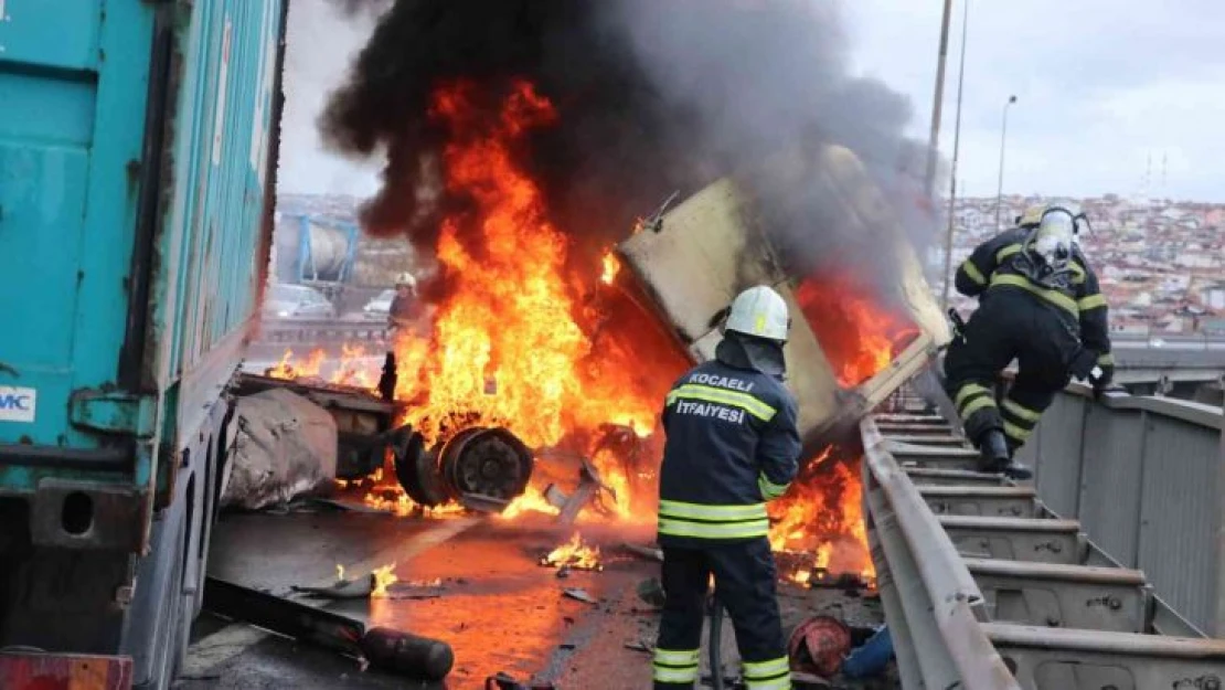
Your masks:
M903 688L1225 688L1225 641L1204 637L1034 487L974 472L976 451L944 419L876 414L860 435Z

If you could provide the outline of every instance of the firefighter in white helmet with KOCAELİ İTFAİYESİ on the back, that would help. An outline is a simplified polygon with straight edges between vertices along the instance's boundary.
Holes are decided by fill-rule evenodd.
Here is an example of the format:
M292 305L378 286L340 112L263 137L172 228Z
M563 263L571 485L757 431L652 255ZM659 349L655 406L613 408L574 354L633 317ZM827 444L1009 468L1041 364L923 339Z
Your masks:
M666 603L657 689L697 680L710 575L736 631L747 688L791 686L766 515L766 501L786 490L800 455L796 403L783 385L789 327L777 292L745 290L731 304L715 359L668 393L659 482Z

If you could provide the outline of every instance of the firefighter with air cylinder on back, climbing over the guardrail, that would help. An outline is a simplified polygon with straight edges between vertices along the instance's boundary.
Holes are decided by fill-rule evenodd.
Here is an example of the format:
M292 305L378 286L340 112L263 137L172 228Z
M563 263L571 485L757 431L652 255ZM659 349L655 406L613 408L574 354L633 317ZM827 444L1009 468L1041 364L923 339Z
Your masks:
M1012 458L1055 395L1072 376L1100 393L1114 375L1106 299L1076 243L1083 222L1071 203L1033 207L957 270L957 290L979 309L948 348L946 385L982 472L1029 478ZM1016 381L997 404L995 384L1013 359Z

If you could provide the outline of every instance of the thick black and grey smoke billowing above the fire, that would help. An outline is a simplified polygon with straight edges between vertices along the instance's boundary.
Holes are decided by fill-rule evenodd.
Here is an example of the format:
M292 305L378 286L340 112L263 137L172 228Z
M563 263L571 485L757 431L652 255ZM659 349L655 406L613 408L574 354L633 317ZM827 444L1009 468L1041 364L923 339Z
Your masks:
M775 154L845 146L911 239L926 241L935 218L922 211L926 150L902 134L909 103L849 76L846 49L837 9L811 0L397 0L321 126L339 152L386 156L366 230L432 250L439 218L472 200L440 183L447 131L431 94L466 82L492 118L528 80L559 116L513 154L575 260L594 260L673 191L684 199L744 173L794 271L834 262L891 276L864 232L871 221L833 217L840 205L810 184L820 162L793 161L800 174L785 176L753 172Z

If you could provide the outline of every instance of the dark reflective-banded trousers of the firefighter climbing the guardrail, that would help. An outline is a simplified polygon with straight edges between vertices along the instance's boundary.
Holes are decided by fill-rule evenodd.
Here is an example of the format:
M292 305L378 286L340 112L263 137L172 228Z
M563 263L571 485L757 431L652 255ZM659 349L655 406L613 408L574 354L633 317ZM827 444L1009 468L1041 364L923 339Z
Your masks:
M986 433L1001 430L1016 451L1071 381L1068 368L1080 338L1057 309L1022 292L992 293L965 324L964 339L949 344L946 389L975 445ZM998 404L995 385L1013 359L1017 379Z

